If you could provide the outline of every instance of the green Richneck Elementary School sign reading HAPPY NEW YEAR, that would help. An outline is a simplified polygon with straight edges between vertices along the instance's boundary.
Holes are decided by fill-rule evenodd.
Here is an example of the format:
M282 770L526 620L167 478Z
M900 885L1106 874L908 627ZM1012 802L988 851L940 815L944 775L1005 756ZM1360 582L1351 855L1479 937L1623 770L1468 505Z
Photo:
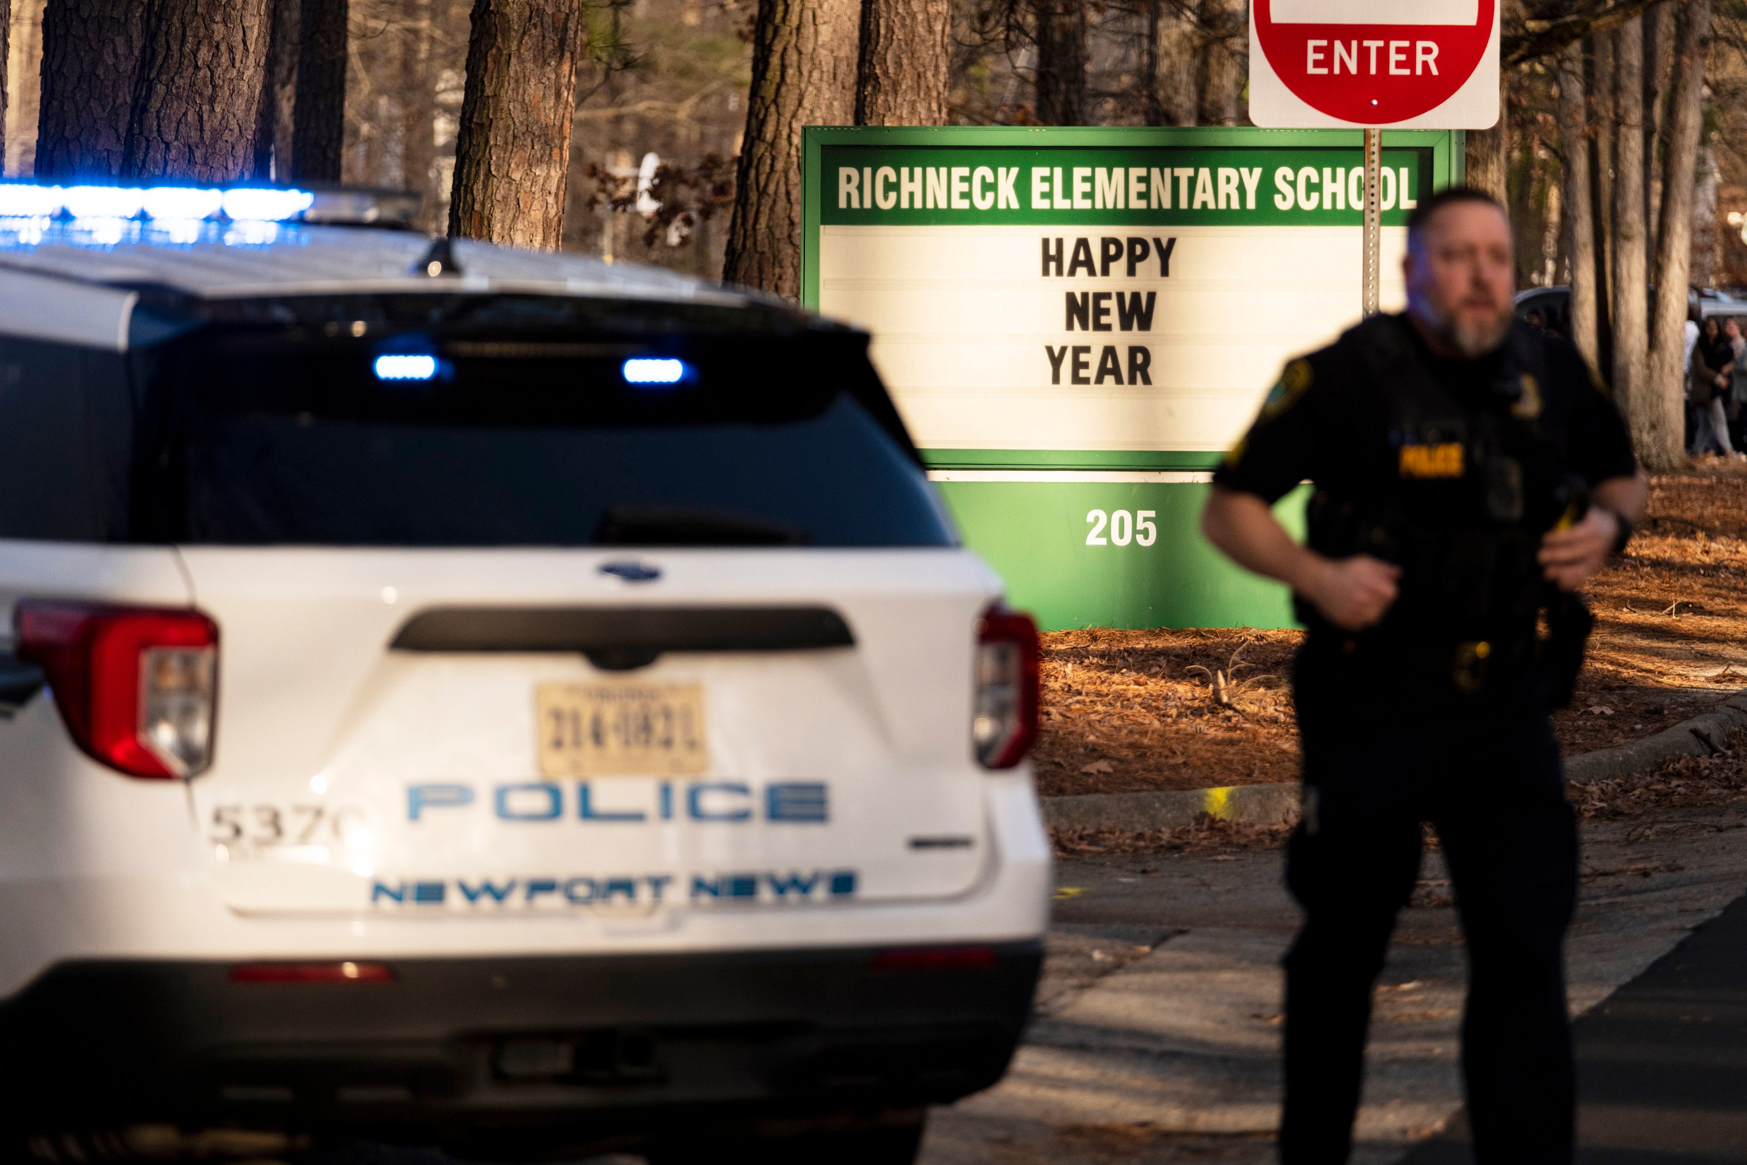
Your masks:
M1392 309L1460 133L1385 133L1382 164ZM1015 604L1052 629L1291 624L1197 520L1279 369L1359 318L1363 131L807 129L804 182L802 302L872 332Z

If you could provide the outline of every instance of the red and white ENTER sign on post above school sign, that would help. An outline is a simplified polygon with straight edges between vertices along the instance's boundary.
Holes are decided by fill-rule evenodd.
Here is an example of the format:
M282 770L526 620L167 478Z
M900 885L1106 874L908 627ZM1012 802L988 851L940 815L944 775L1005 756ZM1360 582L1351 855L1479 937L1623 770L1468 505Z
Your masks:
M1497 0L1253 0L1251 121L1483 129L1497 24Z

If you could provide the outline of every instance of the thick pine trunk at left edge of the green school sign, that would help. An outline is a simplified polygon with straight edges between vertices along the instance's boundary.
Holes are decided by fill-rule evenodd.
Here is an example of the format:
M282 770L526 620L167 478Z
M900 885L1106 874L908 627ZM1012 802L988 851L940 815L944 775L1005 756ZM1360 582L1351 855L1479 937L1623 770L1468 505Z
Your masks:
M725 281L800 295L800 131L854 117L860 28L858 0L758 0Z

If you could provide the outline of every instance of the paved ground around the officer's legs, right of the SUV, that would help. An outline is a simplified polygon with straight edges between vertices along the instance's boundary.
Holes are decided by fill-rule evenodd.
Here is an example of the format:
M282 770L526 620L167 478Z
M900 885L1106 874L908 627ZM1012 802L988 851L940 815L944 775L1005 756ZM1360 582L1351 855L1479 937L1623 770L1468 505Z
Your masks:
M933 1114L922 1165L1272 1162L1298 924L1279 851L1074 859L1057 884L1025 1046ZM1585 1162L1747 1162L1744 891L1747 803L1585 824L1567 943ZM1356 1165L1471 1160L1464 971L1433 851L1377 989Z

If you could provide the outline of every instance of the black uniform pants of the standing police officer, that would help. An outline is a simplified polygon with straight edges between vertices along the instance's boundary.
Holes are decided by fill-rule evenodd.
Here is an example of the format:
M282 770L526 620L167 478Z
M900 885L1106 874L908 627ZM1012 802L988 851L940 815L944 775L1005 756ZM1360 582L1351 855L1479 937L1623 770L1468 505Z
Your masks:
M1349 1156L1371 987L1419 877L1420 821L1438 831L1467 938L1474 1156L1571 1162L1564 934L1578 835L1546 713L1391 716L1305 679L1300 671L1307 803L1286 875L1305 920L1286 955L1281 1162Z

